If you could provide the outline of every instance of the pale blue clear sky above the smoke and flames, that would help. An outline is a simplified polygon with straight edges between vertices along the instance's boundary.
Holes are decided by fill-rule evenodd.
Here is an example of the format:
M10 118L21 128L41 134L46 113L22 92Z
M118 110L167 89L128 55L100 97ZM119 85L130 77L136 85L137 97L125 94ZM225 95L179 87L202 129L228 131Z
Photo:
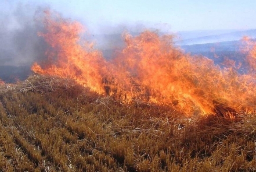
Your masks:
M50 7L67 18L83 22L92 32L108 32L104 29L122 26L172 32L256 28L256 0L1 1L0 10L6 13L17 4Z

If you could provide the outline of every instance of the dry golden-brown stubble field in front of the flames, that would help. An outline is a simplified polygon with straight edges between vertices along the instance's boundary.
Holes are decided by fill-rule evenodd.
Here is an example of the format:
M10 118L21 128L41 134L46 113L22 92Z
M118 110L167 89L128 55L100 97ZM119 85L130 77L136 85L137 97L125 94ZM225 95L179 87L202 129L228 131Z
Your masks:
M74 81L0 85L0 170L256 172L256 116L184 118Z

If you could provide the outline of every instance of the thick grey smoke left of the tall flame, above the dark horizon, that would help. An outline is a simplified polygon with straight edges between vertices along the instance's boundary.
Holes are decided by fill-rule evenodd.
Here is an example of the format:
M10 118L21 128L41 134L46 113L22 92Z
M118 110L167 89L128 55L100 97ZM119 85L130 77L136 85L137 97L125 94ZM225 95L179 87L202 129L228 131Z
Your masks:
M42 26L36 15L40 7L5 2L9 12L0 12L0 65L31 66L45 58L47 44L37 35Z

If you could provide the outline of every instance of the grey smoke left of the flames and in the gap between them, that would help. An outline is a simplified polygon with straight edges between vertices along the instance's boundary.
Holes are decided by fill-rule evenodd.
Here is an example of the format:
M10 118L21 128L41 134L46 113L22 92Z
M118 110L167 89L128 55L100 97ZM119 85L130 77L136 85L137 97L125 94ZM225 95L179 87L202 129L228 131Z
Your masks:
M49 3L49 2L48 2ZM38 3L24 0L4 0L0 7L0 78L4 81L14 81L12 78L24 80L31 74L30 67L34 62L44 61L49 45L38 32L44 32L42 22L43 11L53 8L65 18L72 18L87 26L83 37L89 42L95 42L94 48L101 49L106 59L112 58L115 50L124 46L122 34L129 32L138 35L144 30L155 30L147 23L115 24L108 21L90 21L69 13L61 7L49 5L47 0ZM92 24L91 24L92 23Z

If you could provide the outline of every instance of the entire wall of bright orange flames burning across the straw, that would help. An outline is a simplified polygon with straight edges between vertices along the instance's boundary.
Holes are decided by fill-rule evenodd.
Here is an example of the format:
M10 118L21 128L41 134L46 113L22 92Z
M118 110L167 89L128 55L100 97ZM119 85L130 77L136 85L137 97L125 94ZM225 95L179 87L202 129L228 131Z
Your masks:
M84 29L78 22L47 12L44 25L47 32L40 36L51 49L44 65L32 66L35 73L69 77L101 95L168 105L186 115L219 113L234 118L236 112L256 105L254 75L238 74L236 67L221 69L206 57L185 54L174 46L171 35L124 34L126 46L107 61L92 44L82 42ZM253 70L255 49L248 55Z

